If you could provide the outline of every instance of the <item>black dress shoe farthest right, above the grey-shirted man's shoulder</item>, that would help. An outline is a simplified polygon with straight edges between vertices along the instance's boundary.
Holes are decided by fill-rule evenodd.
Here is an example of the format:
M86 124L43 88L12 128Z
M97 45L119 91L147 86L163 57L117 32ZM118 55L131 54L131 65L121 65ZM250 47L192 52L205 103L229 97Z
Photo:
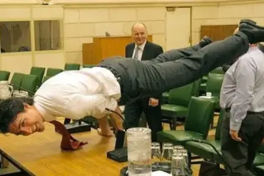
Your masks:
M249 43L259 43L264 41L264 27L258 26L253 20L241 20L239 24L239 31L248 36Z

